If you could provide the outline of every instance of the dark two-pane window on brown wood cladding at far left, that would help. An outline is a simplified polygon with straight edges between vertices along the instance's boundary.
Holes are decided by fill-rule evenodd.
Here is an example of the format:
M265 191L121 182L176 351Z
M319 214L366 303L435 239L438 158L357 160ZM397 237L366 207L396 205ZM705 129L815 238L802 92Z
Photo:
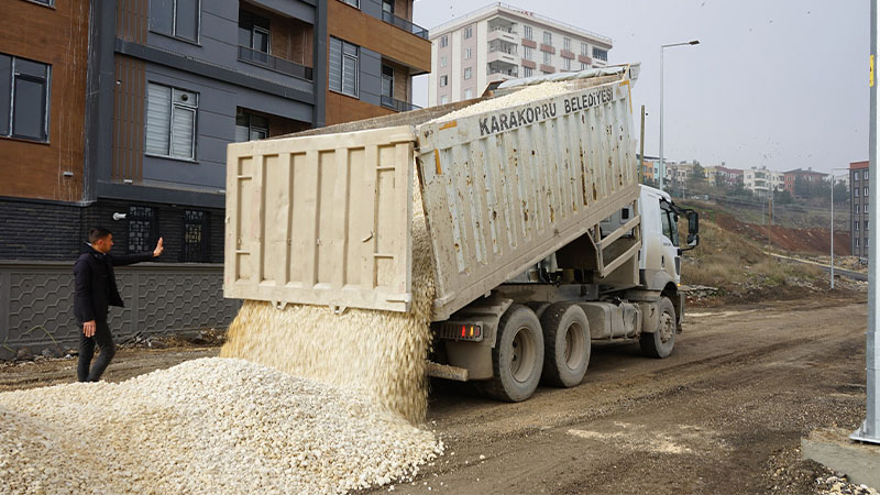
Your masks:
M0 135L48 141L52 67L0 54Z

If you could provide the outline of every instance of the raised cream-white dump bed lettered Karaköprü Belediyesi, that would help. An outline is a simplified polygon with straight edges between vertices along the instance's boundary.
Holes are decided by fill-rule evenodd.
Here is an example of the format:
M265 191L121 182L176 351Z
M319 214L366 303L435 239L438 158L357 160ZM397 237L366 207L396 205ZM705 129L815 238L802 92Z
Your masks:
M224 295L408 311L416 184L449 318L634 204L636 75L229 145Z

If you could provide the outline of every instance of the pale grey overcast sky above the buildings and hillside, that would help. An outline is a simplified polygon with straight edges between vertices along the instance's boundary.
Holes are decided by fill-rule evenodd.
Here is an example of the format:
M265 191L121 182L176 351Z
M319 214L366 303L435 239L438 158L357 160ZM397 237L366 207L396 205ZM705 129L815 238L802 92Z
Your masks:
M432 29L494 2L416 0ZM869 0L508 0L612 37L609 64L641 63L634 123L645 106L645 154L774 170L831 172L868 160ZM428 103L428 76L414 81ZM836 172L843 174L843 172Z

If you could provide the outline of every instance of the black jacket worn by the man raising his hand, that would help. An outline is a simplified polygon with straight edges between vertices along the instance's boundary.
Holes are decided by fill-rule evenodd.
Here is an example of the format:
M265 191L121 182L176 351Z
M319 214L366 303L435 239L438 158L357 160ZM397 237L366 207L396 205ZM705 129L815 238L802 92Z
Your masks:
M110 306L124 306L119 295L113 266L131 265L145 262L153 257L153 253L101 254L91 245L86 245L87 251L79 255L74 264L74 315L80 323L95 319L107 319L107 309Z

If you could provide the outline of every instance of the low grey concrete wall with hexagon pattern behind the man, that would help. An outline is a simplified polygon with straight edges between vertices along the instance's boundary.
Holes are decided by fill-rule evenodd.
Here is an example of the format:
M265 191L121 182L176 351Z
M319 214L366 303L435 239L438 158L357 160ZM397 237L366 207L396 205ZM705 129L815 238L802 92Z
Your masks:
M0 359L13 359L19 350L77 348L73 264L0 262ZM125 302L110 309L117 342L139 333L227 328L240 307L223 298L222 265L141 263L116 272Z

